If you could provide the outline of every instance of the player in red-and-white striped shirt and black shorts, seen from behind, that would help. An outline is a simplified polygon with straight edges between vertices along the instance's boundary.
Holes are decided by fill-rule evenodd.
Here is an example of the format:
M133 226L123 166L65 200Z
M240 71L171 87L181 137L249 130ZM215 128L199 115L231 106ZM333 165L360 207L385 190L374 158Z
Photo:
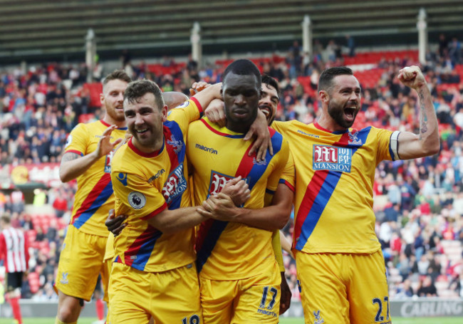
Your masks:
M4 261L6 268L6 299L11 305L14 319L22 324L19 298L23 277L28 269L28 239L21 229L11 226L11 219L7 214L0 217L0 228L0 260Z

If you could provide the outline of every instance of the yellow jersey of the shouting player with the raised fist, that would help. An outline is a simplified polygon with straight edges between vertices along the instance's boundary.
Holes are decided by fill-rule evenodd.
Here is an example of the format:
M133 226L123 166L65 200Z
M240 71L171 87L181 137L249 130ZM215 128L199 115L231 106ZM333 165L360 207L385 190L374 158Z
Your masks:
M293 249L307 253L373 253L375 167L393 160L392 132L375 127L329 132L318 123L274 122L296 165Z

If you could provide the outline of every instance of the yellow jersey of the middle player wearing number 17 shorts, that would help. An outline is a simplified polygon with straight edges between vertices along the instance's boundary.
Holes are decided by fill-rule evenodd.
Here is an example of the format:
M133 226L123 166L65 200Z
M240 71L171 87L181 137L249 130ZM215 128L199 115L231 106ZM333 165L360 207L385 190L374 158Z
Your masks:
M206 117L189 125L187 157L193 167L194 204L222 190L230 179L241 175L251 189L244 204L264 207L266 192L273 193L288 160L288 143L271 130L274 155L264 162L249 157L251 141L244 134L218 127ZM236 280L269 271L275 266L271 231L245 224L209 220L201 224L196 244L197 268L204 278Z

